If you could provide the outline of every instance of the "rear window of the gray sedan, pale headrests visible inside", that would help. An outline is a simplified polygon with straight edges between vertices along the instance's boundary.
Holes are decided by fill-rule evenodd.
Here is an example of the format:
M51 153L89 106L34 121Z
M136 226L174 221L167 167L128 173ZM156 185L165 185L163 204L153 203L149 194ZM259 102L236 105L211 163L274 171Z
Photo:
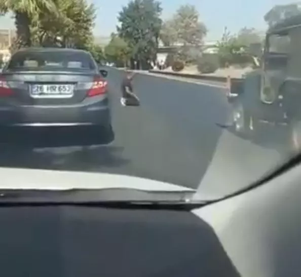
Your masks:
M91 56L84 52L19 52L12 56L8 70L95 70Z

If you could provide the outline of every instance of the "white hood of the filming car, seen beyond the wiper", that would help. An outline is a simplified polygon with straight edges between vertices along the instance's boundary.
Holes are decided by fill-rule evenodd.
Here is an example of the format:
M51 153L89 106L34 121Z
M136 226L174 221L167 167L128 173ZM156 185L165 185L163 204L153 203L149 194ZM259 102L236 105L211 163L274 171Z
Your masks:
M0 189L108 189L132 188L148 191L187 191L189 187L127 175L0 168Z

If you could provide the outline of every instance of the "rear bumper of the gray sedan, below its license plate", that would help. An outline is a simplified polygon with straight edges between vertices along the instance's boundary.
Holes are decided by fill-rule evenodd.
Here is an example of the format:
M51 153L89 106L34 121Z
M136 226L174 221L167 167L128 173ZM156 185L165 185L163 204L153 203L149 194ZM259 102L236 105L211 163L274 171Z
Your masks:
M0 126L4 127L68 127L110 125L107 103L65 106L0 106Z

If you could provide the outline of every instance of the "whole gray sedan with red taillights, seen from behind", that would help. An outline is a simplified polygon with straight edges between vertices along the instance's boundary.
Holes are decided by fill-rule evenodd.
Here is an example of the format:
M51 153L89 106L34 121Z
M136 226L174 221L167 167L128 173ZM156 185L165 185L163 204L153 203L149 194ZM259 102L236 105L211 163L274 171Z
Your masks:
M0 128L87 126L110 132L106 75L83 50L19 50L0 74Z

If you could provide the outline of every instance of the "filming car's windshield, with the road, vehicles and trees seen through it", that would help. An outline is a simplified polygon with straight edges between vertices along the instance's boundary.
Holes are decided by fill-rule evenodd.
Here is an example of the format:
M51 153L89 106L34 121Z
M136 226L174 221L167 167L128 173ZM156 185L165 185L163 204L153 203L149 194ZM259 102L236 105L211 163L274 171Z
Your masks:
M301 6L256 1L0 5L0 189L215 199L276 170L301 150Z

